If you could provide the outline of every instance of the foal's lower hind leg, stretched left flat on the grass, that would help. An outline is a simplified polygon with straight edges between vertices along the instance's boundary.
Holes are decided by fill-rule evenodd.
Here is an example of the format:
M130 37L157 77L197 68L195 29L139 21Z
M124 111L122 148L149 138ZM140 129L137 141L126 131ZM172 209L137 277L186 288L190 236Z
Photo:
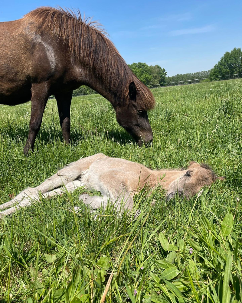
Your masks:
M67 183L67 185L65 185L65 187L61 187L61 188L57 188L53 191L48 191L44 194L41 194L43 198L52 198L55 195L61 195L62 193L65 193L66 191L68 192L72 192L75 189L84 186L84 183L79 181L79 180L74 180L71 181L69 183ZM24 208L24 207L28 207L32 204L32 202L40 202L40 194L35 194L35 195L30 195L29 198L24 199L23 201L21 201L20 203L18 203L17 205L15 205L14 207L8 208L5 211L1 211L0 212L0 218L1 216L4 215L11 215L14 212L16 212L17 210L19 210L20 208Z

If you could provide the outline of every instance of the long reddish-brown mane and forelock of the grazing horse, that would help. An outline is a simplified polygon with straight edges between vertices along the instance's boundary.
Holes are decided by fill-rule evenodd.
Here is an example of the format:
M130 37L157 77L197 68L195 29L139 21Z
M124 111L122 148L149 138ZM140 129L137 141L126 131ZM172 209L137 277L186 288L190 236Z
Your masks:
M25 18L38 23L41 29L51 30L63 40L75 59L90 68L113 92L118 103L128 105L129 84L134 82L138 105L145 110L154 107L151 91L132 73L100 24L89 18L82 20L79 10L51 7L37 8Z

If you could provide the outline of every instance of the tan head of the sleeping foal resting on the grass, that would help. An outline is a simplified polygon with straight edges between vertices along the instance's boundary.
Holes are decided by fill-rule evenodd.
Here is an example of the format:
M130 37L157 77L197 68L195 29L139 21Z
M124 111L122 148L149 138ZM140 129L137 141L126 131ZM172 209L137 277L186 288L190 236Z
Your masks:
M176 194L191 198L204 186L211 186L217 180L224 180L224 177L217 177L214 171L207 165L197 162L190 162L186 170L182 170L183 175L176 178L171 183L167 191L167 200L173 198ZM179 174L180 175L180 174Z

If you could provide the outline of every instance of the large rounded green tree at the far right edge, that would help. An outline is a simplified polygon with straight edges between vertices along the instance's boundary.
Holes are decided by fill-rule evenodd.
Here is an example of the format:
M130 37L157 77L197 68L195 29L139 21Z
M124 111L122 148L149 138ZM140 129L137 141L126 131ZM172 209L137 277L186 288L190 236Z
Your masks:
M220 61L210 71L210 78L242 73L242 51L241 48L234 48L226 52Z

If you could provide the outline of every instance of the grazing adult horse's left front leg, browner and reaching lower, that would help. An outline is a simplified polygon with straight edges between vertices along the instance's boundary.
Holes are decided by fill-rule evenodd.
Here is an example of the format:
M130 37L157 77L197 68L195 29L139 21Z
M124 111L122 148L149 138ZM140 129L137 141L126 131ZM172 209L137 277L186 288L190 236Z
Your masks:
M33 83L31 92L31 117L29 122L28 139L24 148L25 155L28 155L30 148L32 151L34 150L34 142L40 130L44 108L49 97L47 82Z

